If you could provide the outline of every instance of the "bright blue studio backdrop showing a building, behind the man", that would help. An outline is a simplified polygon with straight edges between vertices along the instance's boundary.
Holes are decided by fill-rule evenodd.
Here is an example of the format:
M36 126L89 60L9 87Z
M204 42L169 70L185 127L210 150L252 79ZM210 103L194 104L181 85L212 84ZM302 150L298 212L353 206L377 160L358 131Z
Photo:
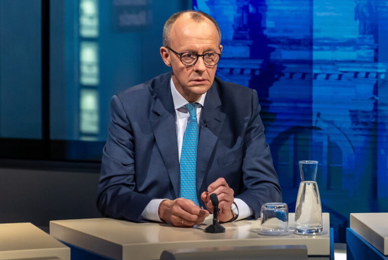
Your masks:
M335 241L349 214L388 211L388 1L197 0L222 31L218 76L259 93L283 200L319 161Z

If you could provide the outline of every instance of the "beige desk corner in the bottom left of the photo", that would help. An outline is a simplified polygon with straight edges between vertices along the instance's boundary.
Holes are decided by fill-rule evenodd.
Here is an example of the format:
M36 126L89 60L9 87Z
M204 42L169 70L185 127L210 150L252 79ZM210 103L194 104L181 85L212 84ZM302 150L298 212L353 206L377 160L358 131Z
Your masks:
M0 224L0 259L70 260L70 248L31 223Z

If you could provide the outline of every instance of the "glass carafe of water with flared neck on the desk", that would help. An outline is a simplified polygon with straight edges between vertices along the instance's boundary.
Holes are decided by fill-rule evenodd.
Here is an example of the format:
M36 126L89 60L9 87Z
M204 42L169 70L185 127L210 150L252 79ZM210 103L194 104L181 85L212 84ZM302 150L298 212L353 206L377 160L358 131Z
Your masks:
M316 234L322 231L321 198L315 181L317 168L317 161L299 162L302 180L295 208L296 234Z

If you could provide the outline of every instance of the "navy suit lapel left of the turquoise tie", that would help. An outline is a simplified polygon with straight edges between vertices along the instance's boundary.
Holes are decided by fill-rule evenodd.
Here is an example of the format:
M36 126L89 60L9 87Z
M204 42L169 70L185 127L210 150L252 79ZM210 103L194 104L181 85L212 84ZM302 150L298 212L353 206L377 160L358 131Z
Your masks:
M179 197L178 143L176 140L174 103L169 87L171 75L166 78L158 89L154 89L155 103L151 111L150 123L175 195Z

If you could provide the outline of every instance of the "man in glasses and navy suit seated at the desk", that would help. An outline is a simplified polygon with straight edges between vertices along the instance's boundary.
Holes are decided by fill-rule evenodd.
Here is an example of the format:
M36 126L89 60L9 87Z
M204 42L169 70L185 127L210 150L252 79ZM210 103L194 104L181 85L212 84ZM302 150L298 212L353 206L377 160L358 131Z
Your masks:
M174 14L160 54L172 73L113 96L98 207L107 217L201 224L220 201L219 220L258 218L281 201L255 90L215 77L216 21Z

